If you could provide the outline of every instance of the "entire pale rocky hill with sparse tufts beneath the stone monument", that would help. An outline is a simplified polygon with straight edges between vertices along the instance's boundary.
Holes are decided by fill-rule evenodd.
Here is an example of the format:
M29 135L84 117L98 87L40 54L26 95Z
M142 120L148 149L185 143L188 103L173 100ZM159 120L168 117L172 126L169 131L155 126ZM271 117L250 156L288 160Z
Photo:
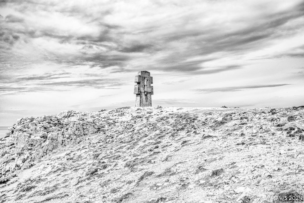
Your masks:
M304 106L25 117L0 139L0 202L299 200L303 129Z

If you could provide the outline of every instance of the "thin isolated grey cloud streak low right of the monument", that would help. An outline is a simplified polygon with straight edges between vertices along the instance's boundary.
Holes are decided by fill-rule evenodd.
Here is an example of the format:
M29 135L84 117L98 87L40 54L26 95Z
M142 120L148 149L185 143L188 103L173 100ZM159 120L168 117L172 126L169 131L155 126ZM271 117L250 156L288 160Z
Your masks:
M219 87L219 88L207 88L207 89L192 89L192 91L197 93L212 93L212 92L235 92L244 89L259 89L259 88L269 88L269 87L281 87L291 84L275 84L275 85L252 85L252 86L235 86L235 87Z

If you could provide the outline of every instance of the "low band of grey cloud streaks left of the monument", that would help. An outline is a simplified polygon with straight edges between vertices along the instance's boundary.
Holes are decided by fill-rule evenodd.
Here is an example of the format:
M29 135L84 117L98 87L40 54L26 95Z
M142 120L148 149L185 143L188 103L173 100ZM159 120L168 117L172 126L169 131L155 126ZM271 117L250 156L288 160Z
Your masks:
M119 89L125 81L114 81L92 73L47 72L34 75L0 75L0 94L14 95L28 92L68 91L67 87L94 89ZM77 77L77 78L76 78ZM64 88L65 87L65 88Z

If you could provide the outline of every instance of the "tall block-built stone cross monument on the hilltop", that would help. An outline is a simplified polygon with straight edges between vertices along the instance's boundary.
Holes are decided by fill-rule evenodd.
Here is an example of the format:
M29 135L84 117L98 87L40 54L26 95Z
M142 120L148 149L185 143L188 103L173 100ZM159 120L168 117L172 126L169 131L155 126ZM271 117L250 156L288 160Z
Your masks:
M139 71L135 76L134 94L136 94L136 107L152 107L153 77L148 71Z

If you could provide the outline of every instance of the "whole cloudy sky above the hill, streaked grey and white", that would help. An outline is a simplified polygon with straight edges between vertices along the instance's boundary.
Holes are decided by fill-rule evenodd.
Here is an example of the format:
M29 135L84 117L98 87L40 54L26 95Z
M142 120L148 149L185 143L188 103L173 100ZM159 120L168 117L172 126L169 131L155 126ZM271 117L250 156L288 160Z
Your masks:
M0 126L152 105L304 105L304 1L0 1Z

